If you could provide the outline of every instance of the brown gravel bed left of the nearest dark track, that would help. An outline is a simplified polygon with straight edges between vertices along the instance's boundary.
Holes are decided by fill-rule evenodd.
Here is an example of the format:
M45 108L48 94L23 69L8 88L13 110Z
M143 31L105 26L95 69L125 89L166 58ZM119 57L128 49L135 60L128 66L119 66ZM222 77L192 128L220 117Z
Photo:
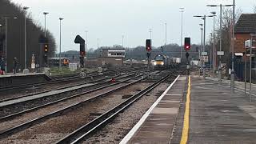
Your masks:
M96 118L97 114L102 114L106 112L106 110L110 110L114 106L123 102L123 94L134 94L136 90L143 89L150 84L151 83L138 83L134 86L128 87L125 90L120 90L115 94L111 94L106 98L86 103L86 105L78 108L78 111L72 110L70 112L67 112L63 116L50 118L49 120L46 120L46 122L42 122L36 126L32 126L29 129L23 130L17 134L10 136L9 138L2 139L0 143L45 144L56 142L58 141L58 139L64 137L66 134L69 134L73 130L77 129L79 126L82 126L90 122L92 119ZM96 115L91 114L91 112Z

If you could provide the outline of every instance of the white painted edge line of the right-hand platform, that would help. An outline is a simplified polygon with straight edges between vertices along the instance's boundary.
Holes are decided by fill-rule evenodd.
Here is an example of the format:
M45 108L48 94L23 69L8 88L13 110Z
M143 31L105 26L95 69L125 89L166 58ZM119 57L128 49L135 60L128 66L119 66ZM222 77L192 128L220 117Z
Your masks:
M162 95L158 98L156 102L150 107L149 110L146 111L146 113L142 116L142 118L138 121L138 123L130 130L128 134L126 134L126 137L122 139L120 144L125 144L130 141L130 138L134 136L136 131L142 126L142 124L146 121L146 118L150 115L151 111L154 110L154 108L158 105L158 103L162 100L162 98L166 95L166 93L170 90L172 86L174 86L174 83L177 82L178 78L180 78L180 75L170 84L170 86L165 90L165 92L162 93Z

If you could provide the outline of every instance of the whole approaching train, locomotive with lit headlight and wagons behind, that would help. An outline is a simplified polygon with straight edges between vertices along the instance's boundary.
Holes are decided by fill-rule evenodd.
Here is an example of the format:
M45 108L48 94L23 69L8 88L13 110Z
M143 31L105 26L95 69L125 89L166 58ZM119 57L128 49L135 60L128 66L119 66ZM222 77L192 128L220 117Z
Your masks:
M180 63L180 58L169 58L165 54L158 54L154 57L153 66L154 70L168 70L170 68L176 68Z

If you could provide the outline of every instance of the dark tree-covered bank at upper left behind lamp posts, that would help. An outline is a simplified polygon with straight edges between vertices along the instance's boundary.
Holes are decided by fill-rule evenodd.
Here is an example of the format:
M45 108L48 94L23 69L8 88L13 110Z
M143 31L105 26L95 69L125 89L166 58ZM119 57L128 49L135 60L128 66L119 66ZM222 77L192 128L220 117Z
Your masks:
M0 57L5 58L5 46L7 38L6 54L7 66L9 70L12 70L14 58L18 58L20 68L24 68L25 16L27 47L26 64L30 67L32 54L35 55L36 61L39 62L39 55L40 50L42 50L42 46L38 43L38 38L41 34L44 34L44 29L39 25L38 22L32 19L30 13L26 14L26 11L23 10L23 6L10 2L10 0L0 0L0 24L2 25L0 25ZM5 18L7 18L7 25ZM55 38L50 31L46 31L46 38L48 38L50 46L49 55L52 55L56 50Z

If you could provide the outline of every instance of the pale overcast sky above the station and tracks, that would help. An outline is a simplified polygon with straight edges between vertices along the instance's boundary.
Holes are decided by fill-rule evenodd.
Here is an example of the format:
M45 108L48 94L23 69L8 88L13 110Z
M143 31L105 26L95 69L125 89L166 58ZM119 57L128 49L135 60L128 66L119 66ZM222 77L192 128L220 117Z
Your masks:
M219 8L206 7L207 4L232 4L232 0L12 0L12 2L29 6L34 21L54 34L59 46L59 20L62 17L62 50L79 50L74 38L80 34L84 39L88 30L88 47L122 45L144 46L150 38L152 29L154 46L165 43L165 23L167 25L167 43L180 44L181 13L185 8L183 37L191 37L192 43L201 42L200 18L193 15L210 14ZM236 0L237 8L243 13L252 13L255 0ZM209 38L213 27L213 18L206 20L206 35Z

